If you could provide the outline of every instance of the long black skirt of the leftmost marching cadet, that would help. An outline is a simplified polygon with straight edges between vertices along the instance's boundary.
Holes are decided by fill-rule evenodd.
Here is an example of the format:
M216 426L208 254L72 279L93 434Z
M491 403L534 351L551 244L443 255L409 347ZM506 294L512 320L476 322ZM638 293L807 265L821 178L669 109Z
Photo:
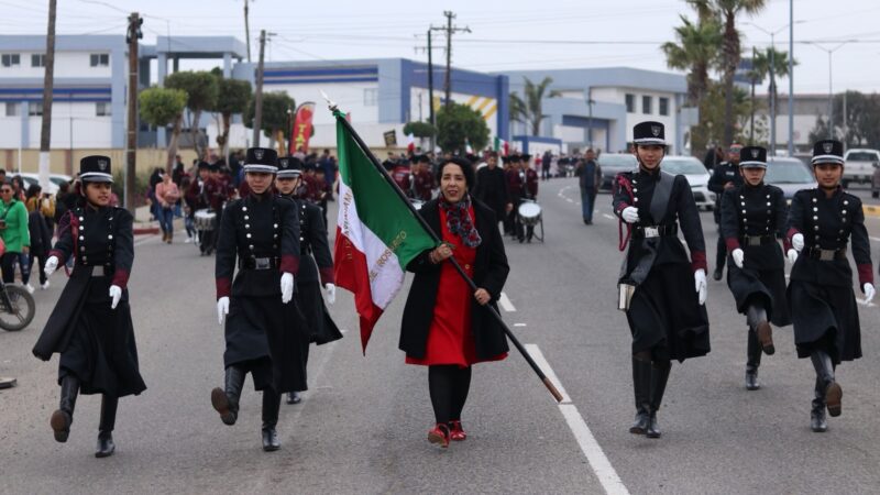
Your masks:
M61 298L72 302L79 299L79 304L70 307L72 331L61 353L58 384L65 376L74 375L80 382L82 394L139 395L146 385L138 366L128 290L123 292L117 308L111 309L110 278L81 280L85 284L66 286ZM68 294L67 287L81 293L80 298Z

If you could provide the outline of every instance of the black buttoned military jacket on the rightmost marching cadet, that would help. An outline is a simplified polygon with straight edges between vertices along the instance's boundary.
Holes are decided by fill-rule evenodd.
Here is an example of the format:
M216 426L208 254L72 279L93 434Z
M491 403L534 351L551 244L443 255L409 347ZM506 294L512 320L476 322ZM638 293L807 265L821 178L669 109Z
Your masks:
M851 287L853 271L846 257L822 261L807 253L816 248L845 250L847 243L851 243L859 285L873 283L870 240L858 197L839 187L831 198L821 188L799 190L789 209L787 235L791 240L796 233L804 235L804 250L791 270L792 280Z

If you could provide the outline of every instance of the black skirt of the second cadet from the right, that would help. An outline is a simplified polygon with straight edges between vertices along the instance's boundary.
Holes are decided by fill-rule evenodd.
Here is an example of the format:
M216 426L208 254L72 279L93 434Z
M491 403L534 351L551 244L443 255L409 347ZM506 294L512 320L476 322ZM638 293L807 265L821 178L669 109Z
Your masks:
M749 305L760 301L767 317L777 327L791 324L791 311L785 296L785 271L783 268L739 268L732 256L727 256L727 287L736 299L736 309L745 315Z

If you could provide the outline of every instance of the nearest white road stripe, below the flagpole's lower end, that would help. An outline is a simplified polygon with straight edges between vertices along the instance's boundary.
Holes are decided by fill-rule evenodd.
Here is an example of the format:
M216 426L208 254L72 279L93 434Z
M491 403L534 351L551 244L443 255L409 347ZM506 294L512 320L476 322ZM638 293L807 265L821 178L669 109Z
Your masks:
M629 495L629 491L624 485L620 476L617 475L617 471L614 470L605 452L602 451L602 447L596 441L596 438L593 437L593 432L590 431L590 427L586 426L583 416L578 411L578 407L571 404L571 397L569 397L553 369L550 367L550 363L544 359L540 348L537 344L526 344L526 349L547 377L553 382L559 393L562 394L562 403L559 404L559 410L574 435L581 452L586 457L590 468L593 469L598 482L602 483L602 487L605 488L605 493L609 495Z

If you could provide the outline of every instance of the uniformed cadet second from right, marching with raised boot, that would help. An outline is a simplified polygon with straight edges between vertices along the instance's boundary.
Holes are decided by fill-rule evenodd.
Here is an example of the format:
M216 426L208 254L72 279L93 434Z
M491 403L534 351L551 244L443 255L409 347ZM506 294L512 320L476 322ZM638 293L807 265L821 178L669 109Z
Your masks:
M782 189L763 183L767 150L746 146L740 150L739 173L745 179L722 199L721 231L729 251L727 286L737 310L748 321L746 388L757 391L761 350L773 354L770 322L791 324L785 299L785 258L777 237L785 239L788 208Z

